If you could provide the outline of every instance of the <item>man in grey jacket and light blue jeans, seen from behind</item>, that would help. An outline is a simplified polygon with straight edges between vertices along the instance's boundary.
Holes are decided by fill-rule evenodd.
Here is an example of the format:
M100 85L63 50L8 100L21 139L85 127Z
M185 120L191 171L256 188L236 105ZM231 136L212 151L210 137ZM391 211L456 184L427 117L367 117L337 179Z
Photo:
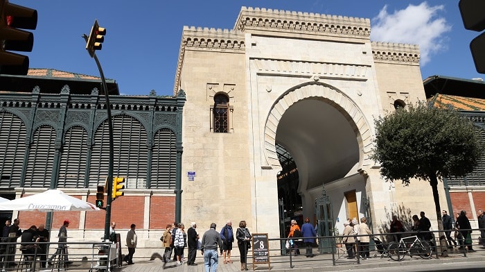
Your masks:
M204 266L206 272L216 272L218 270L218 246L222 248L222 239L219 232L215 230L215 223L211 223L211 228L202 237L202 255L204 255Z

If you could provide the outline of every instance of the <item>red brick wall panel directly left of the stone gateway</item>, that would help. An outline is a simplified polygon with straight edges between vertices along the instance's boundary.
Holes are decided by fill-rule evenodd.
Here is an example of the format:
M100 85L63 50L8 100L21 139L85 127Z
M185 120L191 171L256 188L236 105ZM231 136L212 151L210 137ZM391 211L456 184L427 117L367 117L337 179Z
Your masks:
M150 228L164 230L175 221L175 196L152 196L150 201Z

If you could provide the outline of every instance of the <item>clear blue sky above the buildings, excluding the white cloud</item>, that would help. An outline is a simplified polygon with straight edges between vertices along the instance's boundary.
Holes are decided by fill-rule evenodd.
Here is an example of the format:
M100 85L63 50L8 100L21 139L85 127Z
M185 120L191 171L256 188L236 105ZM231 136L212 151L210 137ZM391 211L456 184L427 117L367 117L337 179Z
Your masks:
M81 35L94 19L107 30L96 51L106 78L121 94L172 95L182 28L231 29L241 6L371 19L371 40L419 44L421 74L482 78L470 41L479 33L461 22L458 1L396 0L10 0L38 12L31 68L52 68L99 76Z

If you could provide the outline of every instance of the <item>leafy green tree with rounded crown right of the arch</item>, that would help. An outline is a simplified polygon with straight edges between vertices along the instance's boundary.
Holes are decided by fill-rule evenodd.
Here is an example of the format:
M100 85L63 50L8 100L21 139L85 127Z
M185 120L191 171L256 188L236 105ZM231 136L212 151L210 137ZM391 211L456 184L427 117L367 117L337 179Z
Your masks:
M473 123L456 110L421 102L398 108L375 124L371 159L380 162L381 175L405 185L411 178L429 181L439 230L443 230L438 180L465 176L476 167L483 147Z

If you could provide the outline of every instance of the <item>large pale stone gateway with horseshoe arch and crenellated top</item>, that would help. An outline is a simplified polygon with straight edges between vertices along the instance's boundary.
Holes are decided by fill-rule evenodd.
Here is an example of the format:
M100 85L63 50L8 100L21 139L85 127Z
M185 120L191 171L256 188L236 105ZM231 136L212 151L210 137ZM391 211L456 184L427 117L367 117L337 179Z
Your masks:
M184 27L175 92L186 92L182 221L246 220L285 235L290 219L434 214L425 182L386 182L369 159L374 120L424 100L419 50L371 42L369 19L242 8L233 30ZM194 176L195 175L195 176ZM434 220L436 221L436 220Z

